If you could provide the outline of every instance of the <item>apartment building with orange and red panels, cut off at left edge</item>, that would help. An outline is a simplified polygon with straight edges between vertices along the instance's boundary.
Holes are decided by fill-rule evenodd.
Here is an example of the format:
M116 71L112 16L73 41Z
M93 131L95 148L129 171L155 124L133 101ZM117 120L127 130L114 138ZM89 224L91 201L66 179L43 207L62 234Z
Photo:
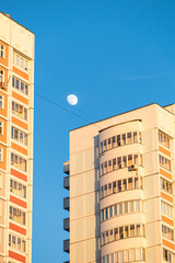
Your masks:
M32 263L34 34L0 12L0 262Z

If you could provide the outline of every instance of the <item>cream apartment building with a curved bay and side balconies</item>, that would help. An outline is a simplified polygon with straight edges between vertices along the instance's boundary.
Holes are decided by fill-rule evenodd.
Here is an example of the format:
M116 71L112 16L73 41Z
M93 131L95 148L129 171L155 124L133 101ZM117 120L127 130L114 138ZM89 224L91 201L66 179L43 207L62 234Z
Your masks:
M175 104L70 132L63 199L70 263L175 262Z

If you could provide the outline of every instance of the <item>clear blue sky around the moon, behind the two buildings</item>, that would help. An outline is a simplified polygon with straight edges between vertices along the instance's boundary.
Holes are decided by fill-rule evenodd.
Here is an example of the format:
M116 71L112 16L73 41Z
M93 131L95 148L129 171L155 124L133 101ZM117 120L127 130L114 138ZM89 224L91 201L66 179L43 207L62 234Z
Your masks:
M36 34L35 92L89 122L175 102L174 0L9 0L0 11ZM33 263L63 262L62 162L69 130L86 122L37 94Z

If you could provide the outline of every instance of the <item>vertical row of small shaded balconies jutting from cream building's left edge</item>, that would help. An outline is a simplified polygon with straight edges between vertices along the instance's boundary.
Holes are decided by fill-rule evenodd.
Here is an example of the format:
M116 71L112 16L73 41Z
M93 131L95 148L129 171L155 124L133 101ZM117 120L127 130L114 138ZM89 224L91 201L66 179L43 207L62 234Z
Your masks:
M63 173L68 174L67 176L63 178L63 188L70 190L70 178L69 178L69 172L70 172L70 162L67 161L63 163ZM67 196L63 198L63 209L70 210L70 197ZM63 230L70 231L70 218L65 218L63 219ZM70 252L70 239L63 240L63 251L69 253ZM69 263L69 261L66 261L65 263Z

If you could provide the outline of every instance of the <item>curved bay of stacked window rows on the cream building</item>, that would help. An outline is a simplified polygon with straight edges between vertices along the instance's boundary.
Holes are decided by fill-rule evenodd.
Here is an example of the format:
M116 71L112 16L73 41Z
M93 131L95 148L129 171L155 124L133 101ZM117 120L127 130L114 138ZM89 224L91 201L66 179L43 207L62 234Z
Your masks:
M118 124L100 133L103 263L145 260L142 155L140 119Z

